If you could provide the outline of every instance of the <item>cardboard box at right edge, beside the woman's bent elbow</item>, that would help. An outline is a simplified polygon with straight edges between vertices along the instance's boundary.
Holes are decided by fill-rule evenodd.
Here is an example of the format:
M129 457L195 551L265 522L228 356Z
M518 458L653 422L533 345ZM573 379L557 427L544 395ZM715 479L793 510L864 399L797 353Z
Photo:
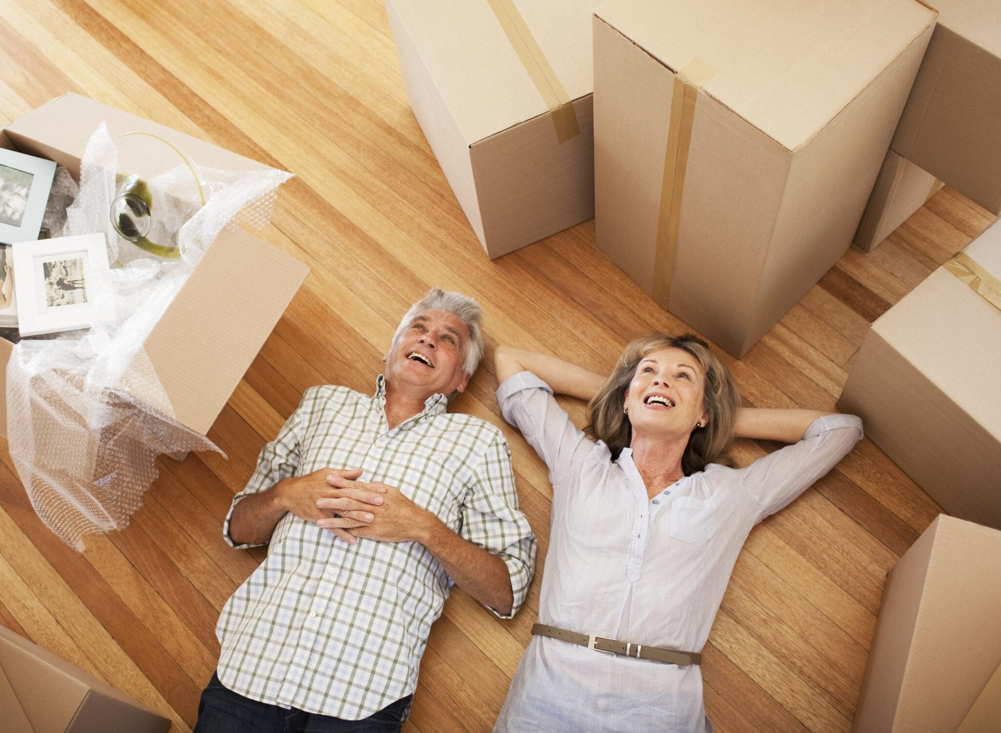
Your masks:
M1001 276L1001 224L966 255ZM873 325L838 409L943 509L1001 529L1001 308L940 267Z

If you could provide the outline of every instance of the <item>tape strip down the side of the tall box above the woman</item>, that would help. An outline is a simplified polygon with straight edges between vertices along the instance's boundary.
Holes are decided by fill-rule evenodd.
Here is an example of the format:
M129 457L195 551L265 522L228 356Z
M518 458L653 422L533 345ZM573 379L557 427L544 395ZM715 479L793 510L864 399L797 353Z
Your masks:
M668 307L671 280L675 274L678 227L682 216L682 193L688 151L692 142L695 104L702 86L716 76L716 69L696 58L675 74L671 95L671 122L668 147L664 155L664 182L661 184L661 209L657 220L657 246L654 254L654 300Z

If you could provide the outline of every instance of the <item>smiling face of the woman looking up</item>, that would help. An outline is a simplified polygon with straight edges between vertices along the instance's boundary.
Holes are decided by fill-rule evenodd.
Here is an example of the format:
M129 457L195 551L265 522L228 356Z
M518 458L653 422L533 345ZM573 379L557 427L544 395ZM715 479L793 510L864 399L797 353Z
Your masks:
M697 422L706 425L705 383L702 366L684 349L652 351L640 361L626 391L634 432L688 435Z

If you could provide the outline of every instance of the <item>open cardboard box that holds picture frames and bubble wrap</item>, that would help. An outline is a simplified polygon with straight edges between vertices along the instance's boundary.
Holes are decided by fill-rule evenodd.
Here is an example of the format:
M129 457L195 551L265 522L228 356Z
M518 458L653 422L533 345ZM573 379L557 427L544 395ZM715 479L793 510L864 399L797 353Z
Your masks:
M196 163L228 170L269 170L163 125L77 94L42 105L0 132L0 145L49 158L77 179L80 157L101 121L114 137L150 132ZM131 166L135 168L135 160ZM148 180L177 165L165 145L150 141L142 166ZM223 229L144 343L178 422L206 433L309 272L309 268L242 230ZM267 273L266 288L248 288ZM12 344L0 339L0 433L7 434L6 365Z

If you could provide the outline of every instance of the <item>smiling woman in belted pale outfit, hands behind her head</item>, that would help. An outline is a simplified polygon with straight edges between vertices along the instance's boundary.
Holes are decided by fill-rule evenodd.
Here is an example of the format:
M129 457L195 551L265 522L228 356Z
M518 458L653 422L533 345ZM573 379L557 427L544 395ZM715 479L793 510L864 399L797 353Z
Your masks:
M852 449L861 420L741 408L691 335L632 342L607 380L508 346L494 358L504 416L553 483L539 623L494 733L712 731L699 652L741 546ZM554 392L592 400L587 433ZM734 437L794 445L728 468Z

